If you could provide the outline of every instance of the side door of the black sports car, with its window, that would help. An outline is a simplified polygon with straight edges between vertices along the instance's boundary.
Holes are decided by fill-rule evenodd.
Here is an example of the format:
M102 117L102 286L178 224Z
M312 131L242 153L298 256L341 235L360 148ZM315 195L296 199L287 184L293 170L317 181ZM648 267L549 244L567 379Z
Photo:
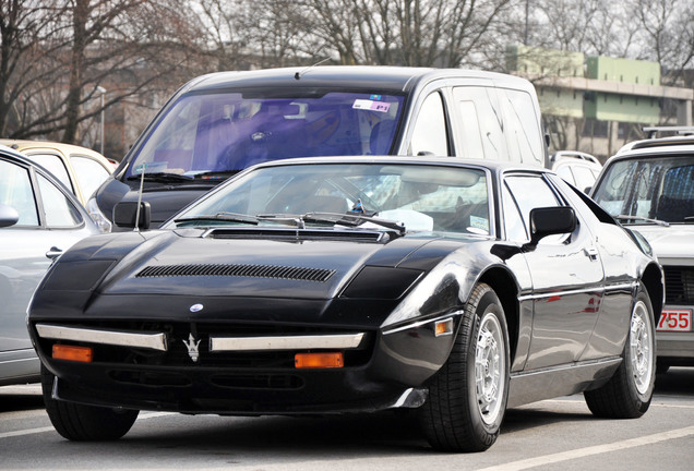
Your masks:
M505 204L515 205L520 214L515 227L506 229L507 237L522 244L529 241L531 209L566 205L540 173L507 176L503 191ZM581 215L576 217L578 224L572 233L547 237L525 251L534 305L526 371L578 361L599 315L605 286L602 263L588 225Z

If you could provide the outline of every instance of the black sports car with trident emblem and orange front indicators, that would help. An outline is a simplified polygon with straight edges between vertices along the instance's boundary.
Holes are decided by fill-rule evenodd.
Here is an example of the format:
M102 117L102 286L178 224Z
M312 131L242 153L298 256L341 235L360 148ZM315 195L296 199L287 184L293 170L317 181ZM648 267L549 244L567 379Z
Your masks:
M144 205L118 210L146 227ZM28 322L70 439L118 438L139 410L411 408L433 447L474 451L545 398L641 416L662 298L648 243L547 170L330 157L77 243Z

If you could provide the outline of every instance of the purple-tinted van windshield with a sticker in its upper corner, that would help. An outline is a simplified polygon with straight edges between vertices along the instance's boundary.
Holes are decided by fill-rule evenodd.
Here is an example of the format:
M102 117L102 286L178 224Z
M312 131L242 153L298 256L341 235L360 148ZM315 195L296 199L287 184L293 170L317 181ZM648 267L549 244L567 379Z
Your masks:
M315 89L183 95L139 147L127 177L144 169L226 178L289 157L388 154L403 100Z

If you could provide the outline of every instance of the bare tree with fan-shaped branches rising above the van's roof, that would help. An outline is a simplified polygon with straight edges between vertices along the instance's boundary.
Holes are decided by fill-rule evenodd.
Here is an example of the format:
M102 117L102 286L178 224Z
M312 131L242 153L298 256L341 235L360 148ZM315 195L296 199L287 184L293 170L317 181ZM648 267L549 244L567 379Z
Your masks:
M511 0L304 0L342 63L458 67ZM340 8L342 5L342 8Z

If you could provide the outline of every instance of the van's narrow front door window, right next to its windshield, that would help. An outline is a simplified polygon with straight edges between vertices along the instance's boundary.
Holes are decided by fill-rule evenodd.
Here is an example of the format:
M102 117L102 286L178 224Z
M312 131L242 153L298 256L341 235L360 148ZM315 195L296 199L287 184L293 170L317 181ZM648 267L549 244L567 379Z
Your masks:
M419 110L412 132L410 153L411 155L450 155L446 118L443 111L443 100L439 93L429 95Z

